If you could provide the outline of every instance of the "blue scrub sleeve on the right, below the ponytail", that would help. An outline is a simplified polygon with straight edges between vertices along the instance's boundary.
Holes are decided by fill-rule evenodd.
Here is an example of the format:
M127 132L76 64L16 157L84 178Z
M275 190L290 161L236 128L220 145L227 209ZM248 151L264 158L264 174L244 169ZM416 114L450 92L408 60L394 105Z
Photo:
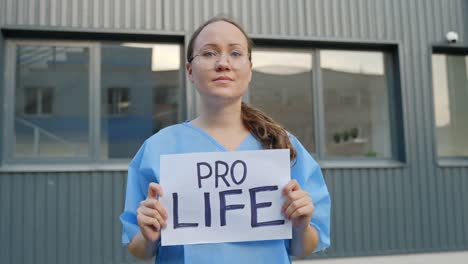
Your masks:
M310 224L319 234L319 243L314 252L330 246L330 209L331 199L319 164L294 136L290 136L297 157L291 162L291 177L307 191L314 203L314 214Z

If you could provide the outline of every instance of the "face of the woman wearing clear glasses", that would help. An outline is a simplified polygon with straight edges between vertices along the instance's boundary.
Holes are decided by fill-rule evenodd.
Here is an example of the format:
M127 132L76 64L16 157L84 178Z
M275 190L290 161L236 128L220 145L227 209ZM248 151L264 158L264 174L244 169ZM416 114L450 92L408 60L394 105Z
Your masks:
M248 56L247 39L236 26L211 23L194 42L194 59L186 65L189 79L205 100L240 100L252 79Z

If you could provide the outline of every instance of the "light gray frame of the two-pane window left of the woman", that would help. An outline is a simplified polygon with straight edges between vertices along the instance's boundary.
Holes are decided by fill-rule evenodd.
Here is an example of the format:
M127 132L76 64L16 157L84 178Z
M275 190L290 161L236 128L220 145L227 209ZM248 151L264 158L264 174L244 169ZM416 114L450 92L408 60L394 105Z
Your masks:
M107 34L104 34L107 35ZM85 36L86 37L86 36ZM142 39L143 38L143 39ZM5 128L1 138L1 156L0 162L1 171L36 171L37 166L41 166L43 170L68 171L68 170L122 170L127 168L128 163L132 159L129 158L112 158L102 159L100 153L101 143L101 99L103 89L101 87L101 44L115 44L122 42L139 42L149 44L174 44L180 47L180 104L179 104L179 119L183 120L187 117L187 85L184 72L184 42L177 39L176 36L170 36L167 40L159 39L159 36L153 36L146 39L145 37L131 36L131 38L98 38L97 40L89 41L83 39L69 39L67 37L60 39L53 38L5 38L5 56L4 56L4 94L3 105L5 111L2 114L3 124ZM95 38L92 38L95 39ZM16 56L19 45L36 45L36 46L61 46L61 47L80 47L88 48L89 50L89 87L88 87L88 152L86 156L81 157L18 157L15 156L14 148L14 118L15 118L15 87L16 87ZM10 99L10 100L8 100ZM60 165L57 165L60 164ZM34 165L34 166L33 166ZM31 168L29 168L32 166Z

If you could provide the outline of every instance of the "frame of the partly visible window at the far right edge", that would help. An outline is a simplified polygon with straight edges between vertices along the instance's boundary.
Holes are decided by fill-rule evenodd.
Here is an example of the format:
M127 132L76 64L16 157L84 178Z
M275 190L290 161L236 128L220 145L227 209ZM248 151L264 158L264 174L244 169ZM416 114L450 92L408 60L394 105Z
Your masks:
M439 54L439 55L462 55L462 56L467 56L468 57L468 47L466 46L454 46L454 45L432 45L429 48L428 52L428 60L429 60L429 70L430 70L430 77L429 78L429 85L431 87L431 92L430 92L430 100L431 100L431 111L432 111L432 144L434 146L433 148L433 158L434 161L436 162L438 167L444 168L444 167L468 167L468 156L453 156L453 157L447 157L447 156L439 156L438 154L438 139L437 139L437 125L436 125L436 109L434 105L434 80L433 80L433 55ZM468 67L468 65L467 65Z

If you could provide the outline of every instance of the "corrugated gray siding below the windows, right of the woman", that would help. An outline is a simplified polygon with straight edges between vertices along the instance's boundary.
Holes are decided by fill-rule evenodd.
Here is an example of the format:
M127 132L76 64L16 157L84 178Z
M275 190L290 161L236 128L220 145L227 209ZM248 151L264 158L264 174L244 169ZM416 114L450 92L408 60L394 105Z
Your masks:
M430 175L435 182L406 169L324 174L333 203L333 246L326 256L468 248L466 168L437 169Z

